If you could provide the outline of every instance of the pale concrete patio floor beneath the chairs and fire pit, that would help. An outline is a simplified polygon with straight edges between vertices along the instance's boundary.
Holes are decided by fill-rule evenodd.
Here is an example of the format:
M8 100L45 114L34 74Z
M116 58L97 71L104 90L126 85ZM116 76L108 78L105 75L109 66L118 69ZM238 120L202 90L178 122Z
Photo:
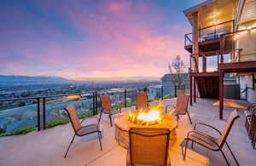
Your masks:
M193 106L189 106L190 116L193 123L202 122L211 124L218 129L224 128L225 121L218 119L218 106L212 106L216 100L198 99ZM165 104L175 104L176 99L164 100ZM224 119L226 119L233 108L224 108ZM256 150L253 150L247 132L244 127L244 113L239 110L241 117L236 121L230 131L228 142L240 165L256 165ZM95 118L88 118L84 123L95 121ZM67 158L63 155L73 136L73 129L70 123L56 126L53 129L45 129L41 132L32 132L26 135L8 136L0 138L0 165L1 166L125 166L126 150L118 146L114 140L114 127L111 128L108 117L102 118L103 139L100 150L96 135L76 137ZM187 116L181 117L177 129L177 141L171 147L170 157L174 165L226 165L224 157L220 152L212 152L195 145L194 151L188 151L186 160L183 161L180 143L193 129ZM210 135L216 135L212 129L203 129ZM217 135L216 135L217 136ZM236 165L230 152L224 146L224 153L230 161L230 165Z

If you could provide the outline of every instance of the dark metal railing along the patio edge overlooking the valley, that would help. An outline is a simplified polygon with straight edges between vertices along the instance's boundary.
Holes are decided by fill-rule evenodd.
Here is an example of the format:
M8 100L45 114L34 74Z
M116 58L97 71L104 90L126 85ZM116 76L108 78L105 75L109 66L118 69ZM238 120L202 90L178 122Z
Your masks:
M168 87L169 89L170 87ZM166 93L163 86L152 86L136 89L105 89L79 94L46 95L27 98L0 100L0 136L25 134L32 130L47 129L62 123L68 123L69 119L64 107L73 104L80 118L90 117L101 112L99 100L100 94L109 94L113 101L113 108L130 107L136 105L137 92L148 92L148 101L163 100L177 94L184 94L181 87ZM165 90L165 93L164 93ZM187 92L187 91L186 91ZM21 103L18 107L12 107L15 102ZM3 109L3 105L6 109Z

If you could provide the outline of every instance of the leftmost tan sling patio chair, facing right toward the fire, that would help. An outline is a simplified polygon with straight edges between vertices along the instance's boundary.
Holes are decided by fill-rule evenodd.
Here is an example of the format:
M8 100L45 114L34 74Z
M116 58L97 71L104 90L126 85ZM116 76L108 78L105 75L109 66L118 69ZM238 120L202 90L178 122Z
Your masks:
M75 107L73 105L69 105L67 107L65 107L65 111L68 114L68 117L70 119L70 122L72 124L73 127L73 131L74 131L74 135L73 138L69 144L69 146L67 147L67 152L69 151L69 148L71 146L71 144L73 143L73 140L75 138L75 136L84 136L84 135L91 135L94 133L98 134L98 138L99 138L99 142L100 142L100 146L101 146L101 151L102 151L102 129L99 123L93 123L93 124L88 124L85 126L82 126L81 123L79 122L79 116L75 110ZM97 121L98 122L98 121ZM65 153L64 157L67 157L67 152Z

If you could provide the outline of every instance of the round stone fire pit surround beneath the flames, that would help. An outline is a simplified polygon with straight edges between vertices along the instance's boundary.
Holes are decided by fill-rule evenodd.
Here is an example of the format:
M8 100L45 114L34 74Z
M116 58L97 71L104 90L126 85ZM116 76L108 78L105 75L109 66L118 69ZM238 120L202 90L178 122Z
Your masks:
M130 128L154 128L154 129L170 129L170 146L176 141L176 128L177 121L176 118L163 114L163 118L160 123L153 125L142 125L137 123L132 123L128 120L128 112L123 112L114 118L115 124L115 140L118 142L119 146L127 149L129 144L129 129Z

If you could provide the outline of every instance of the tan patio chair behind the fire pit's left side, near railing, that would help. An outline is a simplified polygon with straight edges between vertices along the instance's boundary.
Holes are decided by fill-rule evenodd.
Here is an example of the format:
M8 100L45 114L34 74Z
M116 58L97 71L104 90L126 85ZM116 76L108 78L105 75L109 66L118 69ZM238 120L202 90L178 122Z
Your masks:
M118 114L121 112L121 108L119 110L113 110L113 107L111 106L111 100L109 98L108 94L102 94L100 95L101 103L102 103L102 112L100 115L99 122L102 119L102 113L108 114L108 117L110 119L110 126L112 127L112 116L115 114Z

